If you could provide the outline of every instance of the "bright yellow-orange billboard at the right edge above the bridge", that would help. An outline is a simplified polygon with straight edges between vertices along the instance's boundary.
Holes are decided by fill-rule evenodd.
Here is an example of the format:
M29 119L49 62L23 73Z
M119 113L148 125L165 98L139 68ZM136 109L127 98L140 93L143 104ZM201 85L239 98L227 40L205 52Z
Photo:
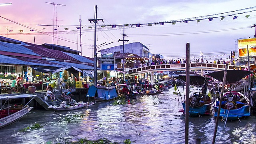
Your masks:
M239 57L248 56L247 54L247 46L249 51L249 56L256 56L256 38L247 38L238 40L238 55Z

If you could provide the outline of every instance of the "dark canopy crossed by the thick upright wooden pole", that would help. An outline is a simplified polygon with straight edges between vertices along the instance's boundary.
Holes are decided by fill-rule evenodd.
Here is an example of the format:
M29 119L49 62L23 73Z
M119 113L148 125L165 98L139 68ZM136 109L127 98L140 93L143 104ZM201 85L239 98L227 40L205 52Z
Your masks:
M186 82L186 76L176 76L174 78ZM189 84L192 86L204 85L208 80L211 80L211 78L206 78L204 76L189 76Z

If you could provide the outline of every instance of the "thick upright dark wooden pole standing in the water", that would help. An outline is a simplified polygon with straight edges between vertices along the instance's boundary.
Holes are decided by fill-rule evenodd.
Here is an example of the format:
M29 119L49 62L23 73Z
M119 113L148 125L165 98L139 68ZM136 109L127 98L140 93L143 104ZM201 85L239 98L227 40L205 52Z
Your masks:
M185 107L185 144L188 144L188 117L189 117L189 67L190 44L186 44L186 107Z

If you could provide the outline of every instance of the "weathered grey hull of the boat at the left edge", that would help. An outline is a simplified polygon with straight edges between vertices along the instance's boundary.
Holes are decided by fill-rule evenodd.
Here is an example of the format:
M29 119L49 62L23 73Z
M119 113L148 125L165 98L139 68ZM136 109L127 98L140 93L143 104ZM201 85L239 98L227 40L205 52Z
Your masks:
M24 106L24 105L18 105L18 106ZM9 116L6 116L4 118L0 119L0 128L3 128L4 126L8 126L9 124L12 124L16 122L17 120L20 120L22 116L30 112L33 107L25 106L23 109L19 110L18 112L15 112L13 114L10 114Z

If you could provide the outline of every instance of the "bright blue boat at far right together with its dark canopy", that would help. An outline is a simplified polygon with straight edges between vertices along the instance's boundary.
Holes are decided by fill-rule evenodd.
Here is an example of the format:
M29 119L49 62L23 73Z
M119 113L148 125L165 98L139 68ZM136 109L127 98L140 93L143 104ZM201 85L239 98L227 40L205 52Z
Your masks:
M246 70L228 70L226 74L226 84L233 84L242 78L252 74ZM206 74L219 81L223 81L224 70ZM220 98L214 103L214 116L218 116L218 109L220 108L220 118L222 120L239 120L244 116L250 116L250 102L249 98L236 91L225 92L223 94L222 102ZM226 122L225 122L226 123Z

